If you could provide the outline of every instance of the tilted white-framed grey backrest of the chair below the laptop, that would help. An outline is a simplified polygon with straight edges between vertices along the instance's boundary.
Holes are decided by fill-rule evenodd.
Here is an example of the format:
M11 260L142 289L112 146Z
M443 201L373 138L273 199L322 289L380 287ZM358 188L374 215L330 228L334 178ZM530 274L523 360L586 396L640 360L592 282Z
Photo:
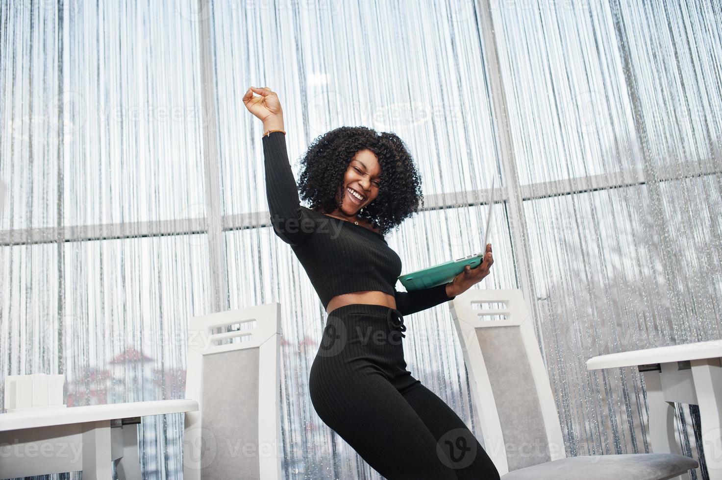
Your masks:
M472 288L450 302L484 450L499 474L565 458L549 376L521 290Z

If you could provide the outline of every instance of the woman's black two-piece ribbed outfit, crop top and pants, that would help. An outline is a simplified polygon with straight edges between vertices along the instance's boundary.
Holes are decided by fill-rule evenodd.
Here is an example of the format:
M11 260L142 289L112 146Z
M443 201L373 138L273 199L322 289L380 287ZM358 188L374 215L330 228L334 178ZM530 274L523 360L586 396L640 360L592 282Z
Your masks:
M454 297L445 285L397 292L401 259L383 235L301 206L285 135L262 141L271 224L324 307L334 295L361 290L396 298L395 309L352 304L329 312L309 378L318 416L386 479L498 479L464 422L406 370L403 315Z

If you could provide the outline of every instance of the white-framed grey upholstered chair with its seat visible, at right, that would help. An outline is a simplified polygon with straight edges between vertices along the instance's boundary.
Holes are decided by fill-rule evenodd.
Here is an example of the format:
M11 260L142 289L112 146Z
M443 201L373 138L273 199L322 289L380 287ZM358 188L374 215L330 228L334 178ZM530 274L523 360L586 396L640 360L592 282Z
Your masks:
M697 468L692 458L666 453L566 458L547 369L521 290L472 288L450 303L482 444L503 480L663 480Z

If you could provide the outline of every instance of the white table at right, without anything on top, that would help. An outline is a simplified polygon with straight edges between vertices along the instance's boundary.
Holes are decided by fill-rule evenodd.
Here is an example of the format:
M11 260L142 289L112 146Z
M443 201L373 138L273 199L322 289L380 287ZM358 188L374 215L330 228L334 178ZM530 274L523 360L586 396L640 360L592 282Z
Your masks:
M653 453L680 453L674 440L674 403L700 406L702 446L710 480L722 480L722 340L601 355L587 370L638 367L649 403ZM679 479L689 479L689 475Z

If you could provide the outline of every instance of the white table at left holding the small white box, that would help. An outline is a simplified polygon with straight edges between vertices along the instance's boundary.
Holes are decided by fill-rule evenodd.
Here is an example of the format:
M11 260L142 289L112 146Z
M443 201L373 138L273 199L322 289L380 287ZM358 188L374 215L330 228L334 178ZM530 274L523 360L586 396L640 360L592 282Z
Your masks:
M0 479L83 471L83 480L141 480L138 424L147 415L197 411L158 400L0 414Z

